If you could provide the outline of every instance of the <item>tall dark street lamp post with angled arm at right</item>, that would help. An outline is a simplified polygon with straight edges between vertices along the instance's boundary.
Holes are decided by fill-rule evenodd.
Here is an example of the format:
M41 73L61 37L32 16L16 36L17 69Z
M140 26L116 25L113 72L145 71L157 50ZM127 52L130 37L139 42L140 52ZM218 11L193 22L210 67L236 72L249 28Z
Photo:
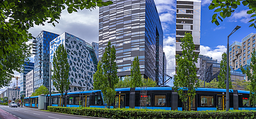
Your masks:
M237 26L234 28L234 30L227 36L227 79L226 79L226 111L229 110L229 36L232 35L234 32L236 32L240 26Z

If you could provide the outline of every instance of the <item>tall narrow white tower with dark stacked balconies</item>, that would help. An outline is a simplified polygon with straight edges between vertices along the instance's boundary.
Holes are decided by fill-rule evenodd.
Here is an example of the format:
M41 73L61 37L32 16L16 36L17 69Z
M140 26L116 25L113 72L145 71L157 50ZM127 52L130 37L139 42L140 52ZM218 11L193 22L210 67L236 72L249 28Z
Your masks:
M177 0L176 13L176 54L181 55L181 38L185 33L193 36L196 54L200 53L201 1ZM199 69L199 60L197 70ZM199 74L197 75L199 77Z

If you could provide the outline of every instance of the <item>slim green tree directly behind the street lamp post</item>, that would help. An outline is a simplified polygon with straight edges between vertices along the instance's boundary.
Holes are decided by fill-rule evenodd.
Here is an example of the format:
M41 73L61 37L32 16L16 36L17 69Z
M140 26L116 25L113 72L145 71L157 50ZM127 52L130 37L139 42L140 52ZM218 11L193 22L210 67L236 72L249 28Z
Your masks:
M221 68L220 68L220 74L218 75L219 80L219 88L226 88L225 80L227 79L227 54L222 54L222 60L221 60ZM232 89L232 82L230 80L230 67L229 68L229 75L228 75L228 81L229 81L229 89Z

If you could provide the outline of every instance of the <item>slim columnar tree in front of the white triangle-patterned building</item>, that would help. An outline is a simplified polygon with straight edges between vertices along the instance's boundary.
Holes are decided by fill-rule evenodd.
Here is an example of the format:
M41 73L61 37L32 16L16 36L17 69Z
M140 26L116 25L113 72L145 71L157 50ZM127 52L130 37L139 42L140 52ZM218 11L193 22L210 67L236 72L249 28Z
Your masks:
M70 81L69 81L69 62L68 62L68 53L63 44L60 44L57 47L56 52L53 55L53 85L56 90L58 90L61 94L61 98L63 97L63 93L69 89Z

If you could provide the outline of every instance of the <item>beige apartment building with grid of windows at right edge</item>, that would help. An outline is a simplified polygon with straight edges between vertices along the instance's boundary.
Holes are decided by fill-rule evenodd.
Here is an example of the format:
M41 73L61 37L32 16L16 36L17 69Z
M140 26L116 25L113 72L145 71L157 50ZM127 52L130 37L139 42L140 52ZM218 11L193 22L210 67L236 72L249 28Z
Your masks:
M240 67L247 68L251 62L251 53L255 50L255 34L250 33L242 39L235 41L229 46L229 65L231 70L241 71ZM245 78L248 81L248 78Z

